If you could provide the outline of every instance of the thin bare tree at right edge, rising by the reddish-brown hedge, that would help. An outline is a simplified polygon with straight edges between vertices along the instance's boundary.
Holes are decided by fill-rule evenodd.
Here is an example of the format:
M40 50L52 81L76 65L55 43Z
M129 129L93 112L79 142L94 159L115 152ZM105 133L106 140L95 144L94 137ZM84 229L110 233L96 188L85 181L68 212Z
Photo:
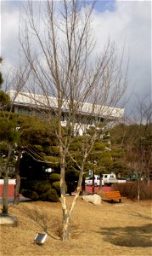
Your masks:
M129 126L126 126L124 138L127 136L127 165L130 167L131 172L136 174L139 201L141 181L146 182L148 186L150 184L149 177L152 167L152 104L149 96L144 97L142 100L137 96L137 100L135 118L129 122Z

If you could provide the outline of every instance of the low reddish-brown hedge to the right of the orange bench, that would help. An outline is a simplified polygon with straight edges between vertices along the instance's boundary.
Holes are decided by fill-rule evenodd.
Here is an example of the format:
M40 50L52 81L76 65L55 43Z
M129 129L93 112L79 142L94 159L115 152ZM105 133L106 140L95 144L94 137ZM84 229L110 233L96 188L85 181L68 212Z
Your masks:
M138 185L136 182L131 183L115 183L115 190L119 190L122 196L126 196L131 200L138 199ZM146 183L140 183L140 200L152 199L152 186Z

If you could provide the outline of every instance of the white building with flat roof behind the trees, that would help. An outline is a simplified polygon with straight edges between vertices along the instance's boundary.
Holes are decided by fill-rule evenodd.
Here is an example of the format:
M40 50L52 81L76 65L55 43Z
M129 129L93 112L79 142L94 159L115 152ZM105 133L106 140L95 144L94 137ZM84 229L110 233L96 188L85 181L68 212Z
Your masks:
M54 96L42 96L38 94L31 94L28 92L19 92L9 90L11 102L13 103L14 113L21 113L25 115L44 115L48 118L55 118L58 110L58 101ZM82 135L83 131L94 125L95 122L103 122L107 119L109 122L117 119L122 119L124 108L111 108L100 105L93 105L88 102L79 102L77 108L75 131ZM62 104L62 125L66 125L69 118L69 101L65 100Z

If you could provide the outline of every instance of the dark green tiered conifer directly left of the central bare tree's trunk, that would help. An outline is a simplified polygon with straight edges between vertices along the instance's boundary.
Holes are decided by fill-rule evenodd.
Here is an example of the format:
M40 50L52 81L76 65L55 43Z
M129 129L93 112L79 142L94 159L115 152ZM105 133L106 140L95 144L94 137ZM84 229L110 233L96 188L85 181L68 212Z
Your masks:
M56 121L55 121L56 122ZM48 123L38 117L22 117L20 176L22 195L32 200L58 201L59 175L53 178L47 169L59 169L59 148L56 146L54 131Z

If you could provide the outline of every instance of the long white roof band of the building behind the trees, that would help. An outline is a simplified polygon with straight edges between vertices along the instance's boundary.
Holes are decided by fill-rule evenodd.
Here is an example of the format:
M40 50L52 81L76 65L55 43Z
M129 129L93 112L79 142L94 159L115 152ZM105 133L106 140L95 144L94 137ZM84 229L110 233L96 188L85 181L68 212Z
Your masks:
M45 109L57 109L58 101L55 96L42 96L40 94L33 94L16 90L9 90L8 95L14 106L24 106L29 108L45 108ZM98 115L99 117L110 119L120 119L123 117L124 108L112 108L101 105L93 105L88 102L79 102L78 113L85 115ZM63 112L69 112L69 101L65 100L62 106Z

